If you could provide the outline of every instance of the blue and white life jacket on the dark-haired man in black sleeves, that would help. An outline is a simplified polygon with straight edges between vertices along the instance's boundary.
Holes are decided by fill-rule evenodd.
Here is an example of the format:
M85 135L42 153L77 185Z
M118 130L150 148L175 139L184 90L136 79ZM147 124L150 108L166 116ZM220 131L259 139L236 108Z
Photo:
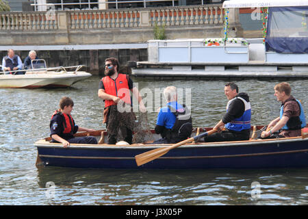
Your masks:
M227 112L229 110L230 103L235 99L240 99L241 101L244 102L244 105L245 105L244 114L242 114L240 118L235 118L230 123L227 123L226 125L224 125L224 127L226 127L227 129L233 130L233 131L242 131L244 129L251 129L251 103L250 102L247 102L242 97L237 96L231 99L227 103Z

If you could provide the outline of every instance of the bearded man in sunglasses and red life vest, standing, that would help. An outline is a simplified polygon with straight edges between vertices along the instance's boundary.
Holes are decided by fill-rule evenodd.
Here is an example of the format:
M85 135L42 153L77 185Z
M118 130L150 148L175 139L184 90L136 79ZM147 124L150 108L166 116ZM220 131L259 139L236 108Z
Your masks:
M136 117L132 112L130 91L138 100L140 112L145 113L146 108L144 107L138 88L133 85L133 81L129 75L118 73L119 69L120 63L115 57L108 57L105 60L105 77L99 82L98 96L105 101L103 123L106 123L107 127L107 144L116 144L119 135L116 130L118 128L123 134L124 141L132 144L133 125L128 124L130 121L134 123ZM125 109L122 109L122 112L119 110L120 108Z

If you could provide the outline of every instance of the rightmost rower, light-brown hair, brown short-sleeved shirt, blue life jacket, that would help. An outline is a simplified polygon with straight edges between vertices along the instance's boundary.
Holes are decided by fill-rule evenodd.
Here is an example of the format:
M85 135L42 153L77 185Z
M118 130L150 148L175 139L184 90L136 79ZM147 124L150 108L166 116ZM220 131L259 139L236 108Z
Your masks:
M306 127L303 105L291 95L291 86L287 82L274 86L274 96L281 102L280 116L268 124L268 130L261 133L261 138L288 138L301 136L301 129ZM276 133L278 132L278 133Z

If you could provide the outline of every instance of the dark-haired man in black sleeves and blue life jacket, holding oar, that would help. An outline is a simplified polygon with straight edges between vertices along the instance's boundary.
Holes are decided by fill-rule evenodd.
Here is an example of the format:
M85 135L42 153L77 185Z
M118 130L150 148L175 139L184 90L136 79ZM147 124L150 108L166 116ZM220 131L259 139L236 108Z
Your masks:
M204 138L205 142L248 140L251 133L251 103L246 92L238 92L238 86L231 82L224 86L229 102L227 112L215 125L218 133Z

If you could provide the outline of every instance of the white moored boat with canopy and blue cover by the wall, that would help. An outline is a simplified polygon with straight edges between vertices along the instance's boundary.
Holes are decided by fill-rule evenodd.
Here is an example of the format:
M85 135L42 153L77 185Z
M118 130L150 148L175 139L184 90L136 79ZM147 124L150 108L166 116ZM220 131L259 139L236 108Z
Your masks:
M224 38L149 40L148 62L138 62L133 75L308 78L308 0L231 0L222 5L258 7L264 8L266 34L257 43L227 38L227 34ZM231 19L225 20L228 27Z

